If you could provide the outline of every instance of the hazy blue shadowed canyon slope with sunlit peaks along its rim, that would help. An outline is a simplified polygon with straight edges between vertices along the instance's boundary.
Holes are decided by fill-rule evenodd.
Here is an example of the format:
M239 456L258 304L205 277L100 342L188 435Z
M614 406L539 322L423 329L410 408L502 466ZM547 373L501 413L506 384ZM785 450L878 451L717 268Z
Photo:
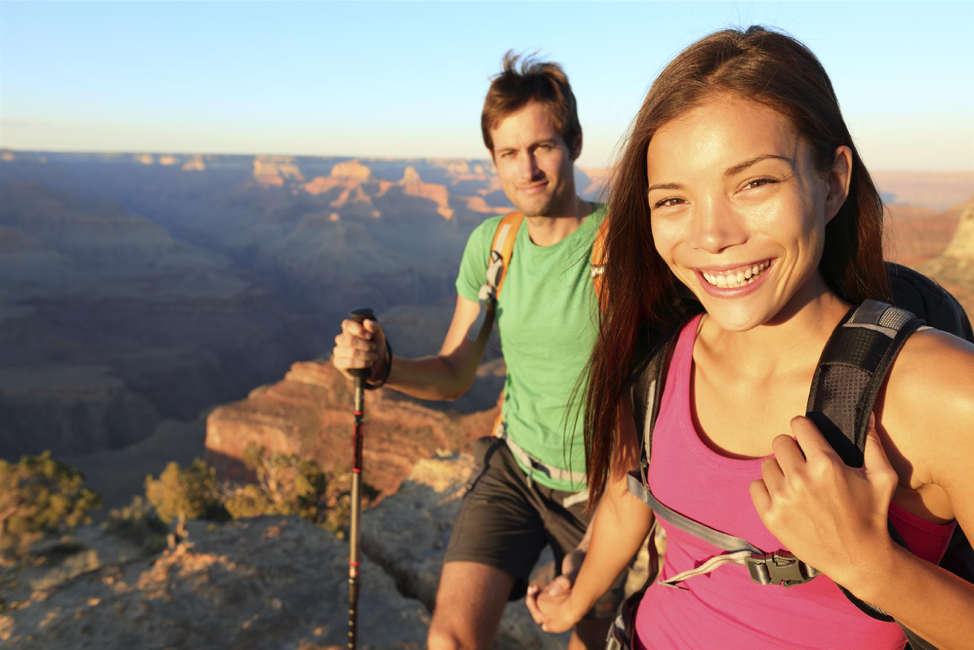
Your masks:
M438 321L505 204L477 161L2 152L0 457L195 420L327 354L353 306Z

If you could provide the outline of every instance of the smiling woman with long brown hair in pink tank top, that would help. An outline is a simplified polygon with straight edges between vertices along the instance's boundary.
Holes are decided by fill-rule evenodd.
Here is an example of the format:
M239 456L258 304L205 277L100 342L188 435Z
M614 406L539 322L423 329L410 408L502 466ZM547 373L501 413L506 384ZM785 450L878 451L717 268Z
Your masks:
M907 340L862 468L796 417L850 307L889 300L882 204L814 55L754 27L680 54L636 117L608 213L609 300L585 415L590 502L601 506L573 589L529 594L535 619L571 627L653 525L626 486L638 457L628 381L641 337L677 332L653 492L824 575L784 589L728 566L680 588L656 583L636 613L635 647L903 647L899 627L837 585L940 648L970 647L974 585L935 563L955 525L974 531L974 347L935 330ZM673 307L681 284L704 314ZM917 555L892 541L888 517ZM662 578L714 555L662 525Z

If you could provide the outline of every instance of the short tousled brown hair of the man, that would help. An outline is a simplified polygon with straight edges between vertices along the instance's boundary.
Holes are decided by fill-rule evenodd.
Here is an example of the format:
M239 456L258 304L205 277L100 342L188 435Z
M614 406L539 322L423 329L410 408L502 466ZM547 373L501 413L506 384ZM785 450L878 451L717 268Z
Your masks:
M518 61L521 62L520 71L517 69ZM557 63L538 61L533 54L522 56L515 54L514 50L508 50L504 55L503 70L491 80L487 98L484 99L480 128L484 132L487 148L494 152L490 130L505 117L533 101L548 110L558 133L572 155L577 156L579 152L575 151L575 147L582 136L582 125L578 122L578 108L568 75Z

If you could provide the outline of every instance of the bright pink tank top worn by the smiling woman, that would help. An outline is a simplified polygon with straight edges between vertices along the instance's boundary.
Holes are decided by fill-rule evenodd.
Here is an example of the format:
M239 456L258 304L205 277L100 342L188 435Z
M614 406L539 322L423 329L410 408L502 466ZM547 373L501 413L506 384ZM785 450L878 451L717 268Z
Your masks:
M707 447L693 425L690 379L698 316L680 333L667 371L653 436L650 484L666 506L767 552L781 543L761 523L748 485L761 478L761 459L722 456ZM890 517L914 554L939 562L954 523L927 522L896 505ZM665 522L668 578L722 551ZM636 613L637 650L650 648L850 648L901 650L906 638L895 623L859 611L827 576L795 587L751 582L743 567L727 565L682 583L653 584Z

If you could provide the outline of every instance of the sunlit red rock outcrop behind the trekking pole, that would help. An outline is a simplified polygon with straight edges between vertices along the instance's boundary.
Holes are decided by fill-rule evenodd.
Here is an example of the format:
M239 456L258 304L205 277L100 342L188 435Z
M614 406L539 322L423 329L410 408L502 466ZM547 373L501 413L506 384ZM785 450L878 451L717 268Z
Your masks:
M385 390L366 395L366 481L394 493L413 464L437 449L459 450L486 435L496 409L440 413ZM325 470L347 471L352 454L352 386L330 363L295 363L283 381L221 406L206 421L206 459L227 478L246 478L250 443L298 454Z

